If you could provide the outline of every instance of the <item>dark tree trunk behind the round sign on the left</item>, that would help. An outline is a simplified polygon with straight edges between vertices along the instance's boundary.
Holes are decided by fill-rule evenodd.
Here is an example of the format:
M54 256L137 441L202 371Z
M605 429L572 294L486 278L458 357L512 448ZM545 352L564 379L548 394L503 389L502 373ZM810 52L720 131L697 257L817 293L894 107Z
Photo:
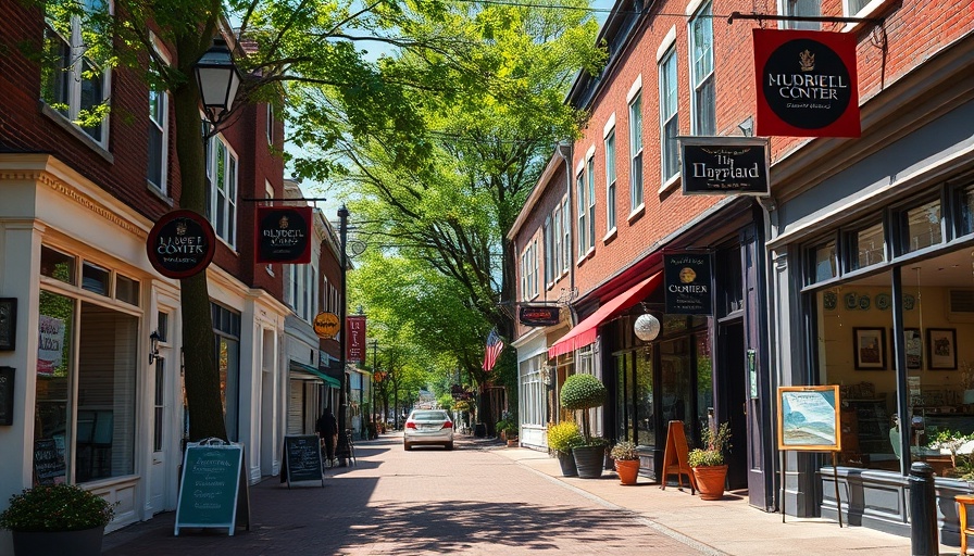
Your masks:
M178 203L201 215L207 214L207 165L201 137L200 99L196 81L172 92L176 118L176 156L182 191ZM216 368L216 344L207 273L179 280L183 308L183 363L186 406L189 413L189 440L227 439Z

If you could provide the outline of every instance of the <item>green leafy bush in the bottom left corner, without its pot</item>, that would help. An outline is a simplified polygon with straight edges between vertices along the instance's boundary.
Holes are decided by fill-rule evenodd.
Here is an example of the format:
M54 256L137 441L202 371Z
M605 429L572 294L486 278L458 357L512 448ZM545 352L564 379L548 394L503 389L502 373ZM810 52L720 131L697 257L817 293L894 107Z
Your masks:
M101 496L74 484L41 484L10 497L0 528L11 531L80 531L104 527L115 510Z

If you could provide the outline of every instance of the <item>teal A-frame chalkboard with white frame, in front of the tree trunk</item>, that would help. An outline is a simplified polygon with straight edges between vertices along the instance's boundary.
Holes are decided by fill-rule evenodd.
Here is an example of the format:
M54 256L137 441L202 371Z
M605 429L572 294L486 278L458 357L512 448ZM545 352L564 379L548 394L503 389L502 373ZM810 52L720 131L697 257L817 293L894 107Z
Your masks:
M242 460L240 444L187 444L174 534L178 535L179 528L185 527L225 527L228 534L234 534L238 497L241 492L247 497L240 475ZM249 501L246 502L249 511Z

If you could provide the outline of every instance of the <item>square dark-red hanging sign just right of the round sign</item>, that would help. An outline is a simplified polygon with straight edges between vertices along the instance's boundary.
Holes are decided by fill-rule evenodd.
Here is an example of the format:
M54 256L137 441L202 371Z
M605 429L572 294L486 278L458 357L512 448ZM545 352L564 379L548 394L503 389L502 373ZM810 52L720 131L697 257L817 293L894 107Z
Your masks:
M253 244L258 264L311 262L310 206L258 206Z

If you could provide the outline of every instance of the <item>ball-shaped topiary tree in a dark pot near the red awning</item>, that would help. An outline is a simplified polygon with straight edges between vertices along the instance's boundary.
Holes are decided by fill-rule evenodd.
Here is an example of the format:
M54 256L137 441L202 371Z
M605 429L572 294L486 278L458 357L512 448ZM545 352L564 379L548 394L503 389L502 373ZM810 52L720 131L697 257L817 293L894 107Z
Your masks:
M608 392L602 381L592 375L572 375L561 388L561 405L572 412L582 412L583 445L572 450L578 477L595 479L602 476L605 462L604 439L592 438L589 428L589 409L601 407Z

